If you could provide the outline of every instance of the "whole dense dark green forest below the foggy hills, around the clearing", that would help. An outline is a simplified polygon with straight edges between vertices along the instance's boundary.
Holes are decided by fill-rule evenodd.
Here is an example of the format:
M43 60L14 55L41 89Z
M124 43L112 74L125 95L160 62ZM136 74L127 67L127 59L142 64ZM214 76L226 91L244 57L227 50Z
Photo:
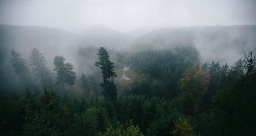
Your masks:
M194 47L130 53L79 47L79 58L97 70L76 73L65 56L47 62L36 48L29 58L12 49L19 83L1 87L1 135L256 135L254 53L242 52L228 66L201 64ZM143 80L117 82L125 65Z

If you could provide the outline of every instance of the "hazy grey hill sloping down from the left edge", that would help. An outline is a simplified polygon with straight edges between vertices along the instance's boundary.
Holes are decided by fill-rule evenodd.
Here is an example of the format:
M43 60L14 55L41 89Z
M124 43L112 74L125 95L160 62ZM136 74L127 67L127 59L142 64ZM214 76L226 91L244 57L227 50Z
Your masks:
M26 56L33 48L38 48L43 53L50 55L63 54L64 50L78 45L97 46L99 44L93 38L82 37L60 29L0 25L0 49L4 56L8 55L12 48Z

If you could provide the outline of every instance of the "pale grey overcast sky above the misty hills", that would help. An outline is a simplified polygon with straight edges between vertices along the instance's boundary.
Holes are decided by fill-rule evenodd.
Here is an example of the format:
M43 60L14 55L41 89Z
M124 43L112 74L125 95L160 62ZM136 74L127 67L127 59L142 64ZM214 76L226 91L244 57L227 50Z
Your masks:
M71 32L104 24L141 27L256 24L256 0L0 0L0 24Z

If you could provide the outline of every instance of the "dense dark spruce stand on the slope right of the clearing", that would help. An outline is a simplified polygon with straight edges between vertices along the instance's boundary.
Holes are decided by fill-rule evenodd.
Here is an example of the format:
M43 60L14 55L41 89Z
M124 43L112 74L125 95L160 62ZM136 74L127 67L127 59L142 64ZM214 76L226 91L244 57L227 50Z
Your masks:
M142 92L147 92L147 90L152 89L152 86L156 84L157 88L152 90L151 95L160 98L173 98L179 96L182 74L187 67L199 62L199 54L195 48L181 47L140 51L131 54L129 60L131 68L137 69L138 72L143 72L161 81L146 83L150 87L148 85L142 85L146 86L145 91L143 90ZM141 88L143 89L143 87ZM148 95L148 93L143 95Z

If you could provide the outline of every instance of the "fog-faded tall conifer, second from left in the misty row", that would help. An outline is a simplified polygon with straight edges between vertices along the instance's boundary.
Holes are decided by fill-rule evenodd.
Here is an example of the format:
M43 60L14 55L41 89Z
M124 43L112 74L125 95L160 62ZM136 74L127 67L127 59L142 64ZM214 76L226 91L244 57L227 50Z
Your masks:
M35 75L35 79L38 80L40 78L43 85L51 83L52 74L46 66L46 60L43 54L34 48L30 54L30 59L30 66L32 66L32 73Z

